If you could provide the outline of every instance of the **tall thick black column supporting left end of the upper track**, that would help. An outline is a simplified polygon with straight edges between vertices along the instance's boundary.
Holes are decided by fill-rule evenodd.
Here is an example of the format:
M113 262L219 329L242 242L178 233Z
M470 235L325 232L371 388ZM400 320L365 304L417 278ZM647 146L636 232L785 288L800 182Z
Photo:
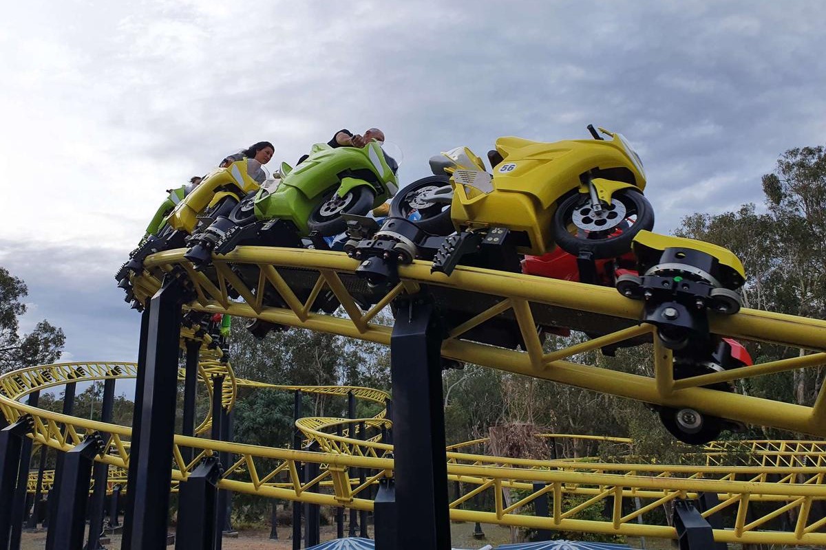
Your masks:
M182 281L167 275L150 301L138 460L130 460L140 482L129 487L134 498L129 550L166 546L182 299Z

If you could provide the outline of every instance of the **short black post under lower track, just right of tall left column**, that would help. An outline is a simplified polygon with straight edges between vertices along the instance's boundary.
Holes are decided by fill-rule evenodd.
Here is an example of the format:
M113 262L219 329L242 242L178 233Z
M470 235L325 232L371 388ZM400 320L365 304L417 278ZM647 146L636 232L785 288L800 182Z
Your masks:
M221 529L215 523L221 467L214 457L204 461L181 483L175 550L212 550ZM217 533L216 533L217 532Z

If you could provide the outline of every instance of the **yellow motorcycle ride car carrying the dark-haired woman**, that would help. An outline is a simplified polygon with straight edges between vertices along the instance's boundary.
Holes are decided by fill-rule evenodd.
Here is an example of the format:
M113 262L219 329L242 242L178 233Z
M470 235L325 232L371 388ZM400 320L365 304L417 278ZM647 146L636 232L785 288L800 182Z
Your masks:
M149 231L144 236L129 255L130 260L118 270L115 279L118 287L126 290L126 301L134 299L131 274L140 274L146 256L184 247L186 238L197 228L206 227L218 216L229 214L244 195L259 189L259 181L252 175L260 173L260 168L260 162L254 158L242 158L204 176L201 183L175 205L154 233ZM133 307L140 308L141 304L133 304Z

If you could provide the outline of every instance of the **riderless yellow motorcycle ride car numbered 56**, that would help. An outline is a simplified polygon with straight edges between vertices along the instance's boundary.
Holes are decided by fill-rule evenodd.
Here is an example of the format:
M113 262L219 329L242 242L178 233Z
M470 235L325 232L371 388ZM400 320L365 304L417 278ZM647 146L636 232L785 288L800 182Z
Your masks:
M434 176L402 190L382 227L345 250L372 284L396 280L396 265L414 258L432 258L432 270L449 275L460 262L519 271L521 255L557 246L582 266L622 256L653 228L643 164L621 134L600 129L606 140L588 129L594 139L497 139L492 175L468 148L433 157Z

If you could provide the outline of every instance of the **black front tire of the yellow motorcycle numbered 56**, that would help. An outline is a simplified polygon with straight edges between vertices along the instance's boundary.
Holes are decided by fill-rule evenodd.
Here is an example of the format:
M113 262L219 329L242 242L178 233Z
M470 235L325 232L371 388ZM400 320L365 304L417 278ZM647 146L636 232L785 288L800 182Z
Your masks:
M631 250L631 242L643 229L649 231L654 227L654 210L648 200L638 190L621 189L612 197L612 208L621 203L625 209L622 219L607 222L605 231L587 231L573 222L575 213L587 210L591 197L575 193L559 204L553 214L553 236L564 251L579 256L581 251L591 251L595 260L615 258ZM636 219L632 220L632 217ZM587 218L585 218L587 219ZM576 228L571 233L569 228Z

